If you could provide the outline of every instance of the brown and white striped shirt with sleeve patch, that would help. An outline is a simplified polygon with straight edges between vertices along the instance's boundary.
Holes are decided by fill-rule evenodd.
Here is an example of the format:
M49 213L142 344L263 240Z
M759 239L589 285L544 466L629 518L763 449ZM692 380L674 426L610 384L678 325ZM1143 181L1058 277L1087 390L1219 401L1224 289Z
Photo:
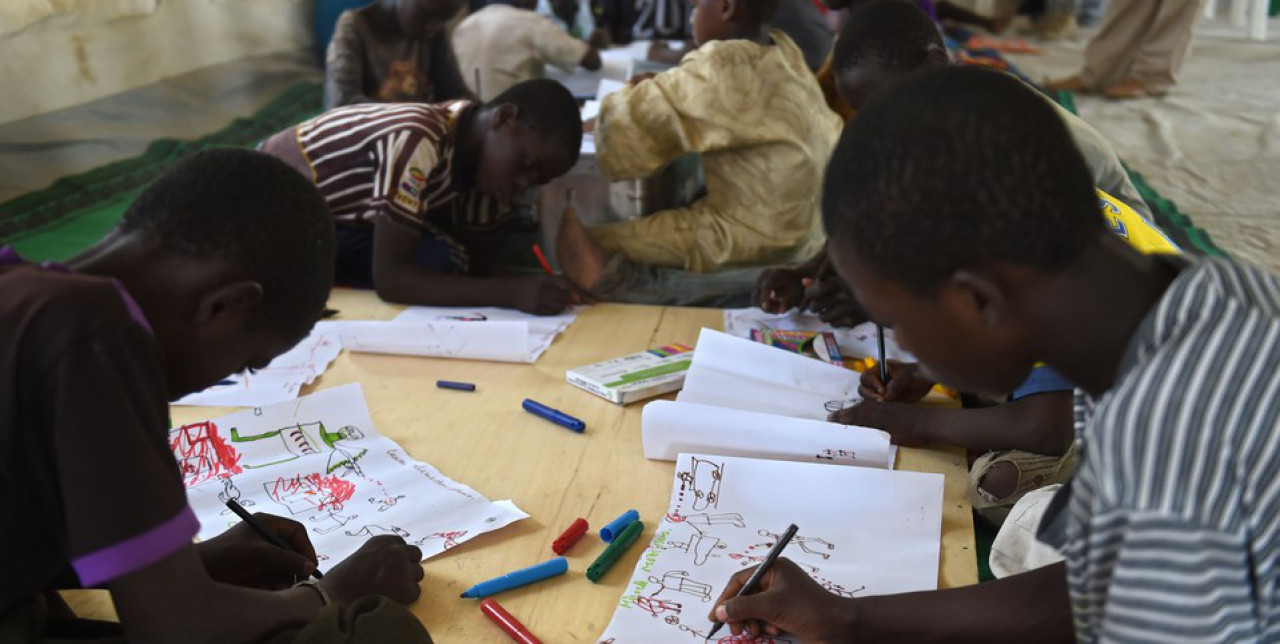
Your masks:
M337 221L371 224L387 213L438 236L483 232L503 223L507 209L456 186L454 129L472 109L468 101L348 105L293 134Z

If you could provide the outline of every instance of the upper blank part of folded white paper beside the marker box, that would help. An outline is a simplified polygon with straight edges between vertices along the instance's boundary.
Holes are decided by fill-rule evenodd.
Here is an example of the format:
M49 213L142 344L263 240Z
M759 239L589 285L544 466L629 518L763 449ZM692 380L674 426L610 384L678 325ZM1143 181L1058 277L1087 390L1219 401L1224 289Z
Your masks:
M680 402L827 420L861 399L850 369L712 329L695 348Z

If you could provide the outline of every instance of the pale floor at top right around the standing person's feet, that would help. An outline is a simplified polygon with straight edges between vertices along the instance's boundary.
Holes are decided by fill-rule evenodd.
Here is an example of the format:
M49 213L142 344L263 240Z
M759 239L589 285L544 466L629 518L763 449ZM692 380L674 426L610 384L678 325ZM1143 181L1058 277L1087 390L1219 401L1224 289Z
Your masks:
M1075 72L1092 31L1010 56L1034 79ZM1120 157L1231 255L1280 270L1280 20L1254 42L1202 20L1180 85L1164 99L1079 97Z

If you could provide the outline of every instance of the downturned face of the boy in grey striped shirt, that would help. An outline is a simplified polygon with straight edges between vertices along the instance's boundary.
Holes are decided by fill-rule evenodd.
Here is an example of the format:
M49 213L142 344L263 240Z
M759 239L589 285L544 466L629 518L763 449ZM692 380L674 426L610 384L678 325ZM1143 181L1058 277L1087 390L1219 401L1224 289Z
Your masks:
M893 328L904 350L948 387L1007 394L1034 364L1021 329L952 275L927 296L881 277L847 246L828 245L831 261L872 320Z

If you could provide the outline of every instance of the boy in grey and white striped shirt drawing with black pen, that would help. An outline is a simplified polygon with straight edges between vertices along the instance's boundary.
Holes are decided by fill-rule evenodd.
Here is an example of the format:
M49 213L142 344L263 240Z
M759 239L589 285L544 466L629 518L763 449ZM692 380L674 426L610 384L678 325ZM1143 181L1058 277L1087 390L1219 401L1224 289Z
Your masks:
M713 618L806 643L1280 640L1280 278L1140 255L1091 186L1041 97L951 68L859 113L823 204L841 278L941 382L1004 393L1039 357L1078 384L1079 470L1041 525L1065 563L844 599L780 561Z

